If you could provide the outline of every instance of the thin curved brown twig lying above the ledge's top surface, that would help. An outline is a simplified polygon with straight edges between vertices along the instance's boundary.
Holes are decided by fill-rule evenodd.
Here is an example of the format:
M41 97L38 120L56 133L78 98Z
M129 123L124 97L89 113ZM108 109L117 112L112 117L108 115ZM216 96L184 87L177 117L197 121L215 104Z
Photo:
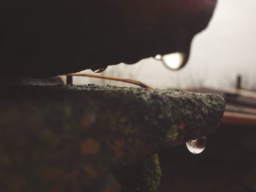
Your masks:
M72 74L66 74L66 75L67 76L76 76L76 77L93 77L93 78L99 78L99 79L104 79L104 80L115 80L115 81L132 83L134 85L140 86L141 88L153 89L150 86L144 84L143 82L140 82L140 81L137 81L137 80L119 78L119 77L109 77L109 76L100 75L100 74L87 74L87 73L82 73L82 74L72 73Z

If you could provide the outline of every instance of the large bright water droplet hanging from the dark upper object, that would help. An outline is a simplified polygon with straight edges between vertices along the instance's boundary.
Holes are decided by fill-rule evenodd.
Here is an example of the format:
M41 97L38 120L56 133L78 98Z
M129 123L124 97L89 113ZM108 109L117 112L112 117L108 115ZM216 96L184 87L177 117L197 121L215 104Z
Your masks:
M170 53L162 56L162 63L170 70L181 69L187 63L187 55L185 53Z

